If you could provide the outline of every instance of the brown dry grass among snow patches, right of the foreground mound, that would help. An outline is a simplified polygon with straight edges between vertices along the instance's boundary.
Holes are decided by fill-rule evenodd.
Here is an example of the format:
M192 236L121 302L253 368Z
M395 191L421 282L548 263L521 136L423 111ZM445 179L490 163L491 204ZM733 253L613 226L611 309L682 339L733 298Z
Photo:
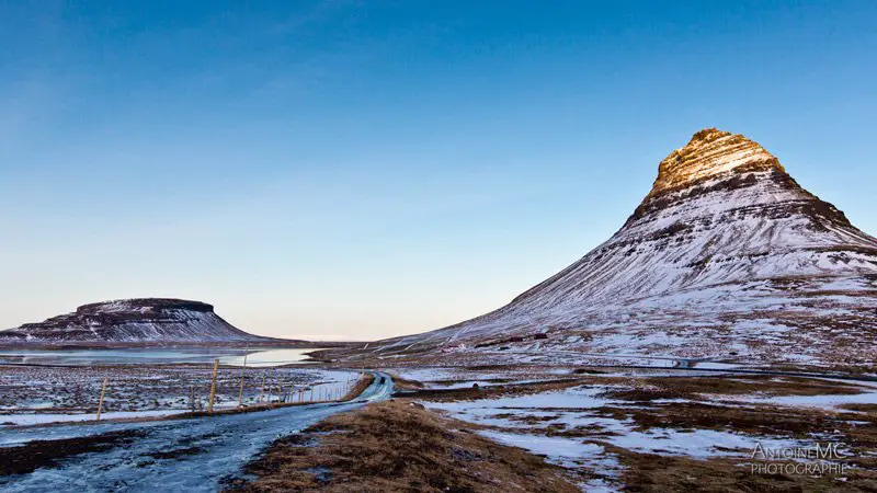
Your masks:
M605 445L608 454L618 456L624 466L620 482L625 491L636 492L809 492L809 491L872 491L877 492L877 406L874 404L848 404L842 410L816 408L789 409L772 404L734 402L734 397L749 395L820 395L857 394L863 389L853 383L775 376L708 376L708 377L643 377L606 378L579 383L608 383L612 387L602 397L619 402L602 408L582 410L591 417L610 417L633 423L637 431L672 428L681 432L716 429L743 433L751 436L785 436L804 443L839 443L848 456L842 462L851 466L846 480L825 475L787 477L784 474L753 474L744 458L710 458L696 460L691 457L641 454L612 446L602 439L607 434L599 425L569 426L550 423L557 413L553 408L538 408L540 415L519 414L520 411L493 414L521 427L499 428L514 433L579 438ZM516 386L470 389L449 392L433 392L438 399L471 400L496 398L532 390L546 391L570 386L542 383L532 389ZM422 392L424 395L428 392ZM722 399L727 395L727 401ZM683 401L656 402L657 399L681 399ZM719 402L714 402L718 400ZM687 401L687 402L686 402ZM748 450L739 450L748 452ZM578 470L576 471L578 472Z

